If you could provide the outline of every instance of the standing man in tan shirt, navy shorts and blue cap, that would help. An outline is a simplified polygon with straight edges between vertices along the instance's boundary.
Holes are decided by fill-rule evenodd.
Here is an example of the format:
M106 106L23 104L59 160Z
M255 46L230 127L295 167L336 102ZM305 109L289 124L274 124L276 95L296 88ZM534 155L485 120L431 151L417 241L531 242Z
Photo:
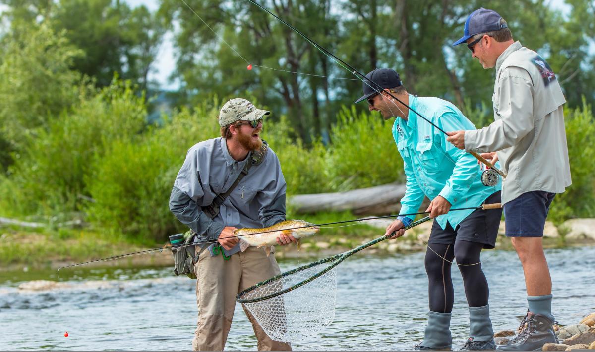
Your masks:
M464 34L453 45L466 42L485 69L496 68L495 121L480 130L449 132L447 140L460 149L484 152L492 162L500 159L508 173L502 183L506 235L522 263L529 309L519 335L498 349L541 350L546 342L557 342L542 238L555 194L571 184L562 110L566 100L547 62L515 42L497 12L472 12Z

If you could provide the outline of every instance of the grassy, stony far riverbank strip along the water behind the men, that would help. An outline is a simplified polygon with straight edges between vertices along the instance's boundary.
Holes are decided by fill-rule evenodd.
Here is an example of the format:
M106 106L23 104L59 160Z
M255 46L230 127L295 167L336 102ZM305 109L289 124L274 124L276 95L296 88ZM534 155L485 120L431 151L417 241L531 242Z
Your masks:
M278 259L320 258L341 253L367 243L384 234L390 219L362 221L357 227L333 228L304 238L298 249L295 245L275 246ZM397 240L387 240L369 247L365 254L408 253L425 250L430 237L432 222L424 222L405 232ZM345 229L345 230L343 230ZM325 229L327 230L327 229ZM511 241L505 237L504 222L500 224L497 249L512 249ZM566 247L595 244L595 219L571 219L556 227L546 222L544 231L545 247ZM63 234L23 232L5 229L0 232L0 271L27 271L29 269L58 268L73 263L86 262L101 257L146 250L135 244L104 238L93 232L77 232L70 237ZM155 247L161 247L157 244ZM142 256L129 256L124 259L93 263L90 266L168 266L173 265L171 253L152 252Z

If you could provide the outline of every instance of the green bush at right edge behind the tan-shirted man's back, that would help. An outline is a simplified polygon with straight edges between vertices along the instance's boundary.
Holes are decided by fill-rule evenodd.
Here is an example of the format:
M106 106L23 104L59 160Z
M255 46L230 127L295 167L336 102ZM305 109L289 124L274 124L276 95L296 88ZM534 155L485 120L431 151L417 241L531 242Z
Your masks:
M558 224L568 218L595 216L595 121L591 107L583 100L582 107L566 111L565 116L572 185L552 203L548 218Z

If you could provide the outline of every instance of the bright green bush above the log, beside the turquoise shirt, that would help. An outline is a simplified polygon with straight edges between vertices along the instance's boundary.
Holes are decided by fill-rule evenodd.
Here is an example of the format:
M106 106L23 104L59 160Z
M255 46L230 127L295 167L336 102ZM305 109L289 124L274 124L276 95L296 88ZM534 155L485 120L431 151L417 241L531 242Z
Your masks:
M343 108L331 129L327 156L328 188L345 191L403 181L403 160L392 124L354 106Z

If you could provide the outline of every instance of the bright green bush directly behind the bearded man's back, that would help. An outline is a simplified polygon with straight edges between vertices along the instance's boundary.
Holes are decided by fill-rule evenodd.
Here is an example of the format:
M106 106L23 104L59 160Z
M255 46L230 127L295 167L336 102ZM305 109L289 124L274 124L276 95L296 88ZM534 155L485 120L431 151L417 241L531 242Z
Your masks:
M94 203L86 208L100 227L133 238L163 240L181 224L170 213L168 199L186 151L217 136L213 102L174 114L162 128L142 140L117 140L96 158L86 177Z

